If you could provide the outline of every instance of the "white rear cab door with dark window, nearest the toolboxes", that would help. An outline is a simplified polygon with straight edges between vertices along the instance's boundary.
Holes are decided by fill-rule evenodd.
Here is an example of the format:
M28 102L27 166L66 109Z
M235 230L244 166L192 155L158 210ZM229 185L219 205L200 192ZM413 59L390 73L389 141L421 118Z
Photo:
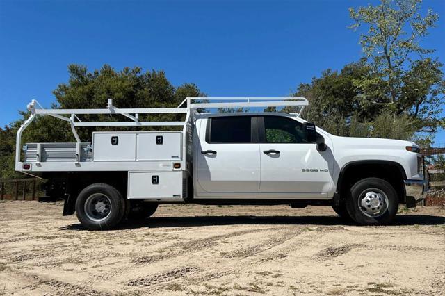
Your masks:
M252 124L258 118L215 116L201 125L195 156L197 181L202 189L226 193L259 191L260 153L256 124Z

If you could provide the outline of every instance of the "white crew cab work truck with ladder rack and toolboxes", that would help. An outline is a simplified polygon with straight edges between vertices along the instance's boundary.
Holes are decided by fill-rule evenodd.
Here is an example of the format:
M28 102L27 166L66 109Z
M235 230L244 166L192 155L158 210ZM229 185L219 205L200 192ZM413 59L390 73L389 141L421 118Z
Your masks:
M428 182L419 146L332 135L300 117L307 105L294 97L206 97L187 98L178 108L120 109L109 99L104 109L44 109L34 100L17 131L15 168L47 179L46 199L63 197L63 215L76 213L87 229L111 229L175 203L331 205L357 224L387 224L399 204L423 199ZM261 107L300 112L206 112ZM139 121L153 113L184 113L185 120ZM79 119L90 114L125 121ZM22 146L22 132L42 115L70 124L76 142ZM179 130L96 131L92 142L82 142L76 128L83 126Z

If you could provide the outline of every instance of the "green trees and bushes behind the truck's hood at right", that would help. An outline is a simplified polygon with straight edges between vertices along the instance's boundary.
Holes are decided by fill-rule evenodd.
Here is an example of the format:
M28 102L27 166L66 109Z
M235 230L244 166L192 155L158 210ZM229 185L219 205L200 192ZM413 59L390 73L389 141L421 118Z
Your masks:
M426 145L439 126L445 81L442 63L428 57L420 38L437 15L419 13L420 0L382 0L378 6L350 8L362 30L364 57L341 71L325 70L294 97L307 97L303 116L337 135L413 139Z

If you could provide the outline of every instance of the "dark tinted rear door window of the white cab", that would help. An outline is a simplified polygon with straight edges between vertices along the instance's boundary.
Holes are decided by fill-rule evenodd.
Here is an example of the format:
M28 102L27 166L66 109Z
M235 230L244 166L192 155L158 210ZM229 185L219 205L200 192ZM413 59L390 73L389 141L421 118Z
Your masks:
M207 125L209 143L250 143L251 142L251 117L227 116L212 117ZM209 131L210 129L210 131Z

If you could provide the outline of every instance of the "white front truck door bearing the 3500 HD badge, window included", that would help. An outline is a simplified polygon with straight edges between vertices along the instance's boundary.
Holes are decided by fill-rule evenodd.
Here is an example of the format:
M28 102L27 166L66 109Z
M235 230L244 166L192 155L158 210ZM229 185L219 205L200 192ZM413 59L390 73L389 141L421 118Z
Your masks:
M276 193L277 196L288 196L289 193L297 197L325 196L332 184L331 150L318 151L315 143L307 142L298 120L273 115L261 119L259 192Z

